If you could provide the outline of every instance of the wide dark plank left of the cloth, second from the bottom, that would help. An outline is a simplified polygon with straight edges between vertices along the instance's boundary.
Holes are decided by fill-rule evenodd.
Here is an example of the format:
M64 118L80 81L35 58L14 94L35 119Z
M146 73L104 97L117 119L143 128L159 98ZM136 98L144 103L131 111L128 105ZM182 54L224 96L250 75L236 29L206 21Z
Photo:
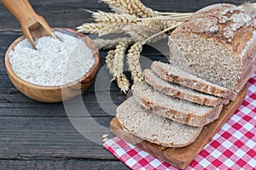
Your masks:
M93 120L109 127L113 116L78 117L79 123ZM98 159L116 160L108 150L104 150L102 134L94 126L85 126L80 134L67 117L24 117L1 116L0 118L0 160L1 159ZM109 131L108 131L109 132ZM110 136L111 137L111 136ZM96 144L98 141L99 144ZM0 168L1 169L1 168Z

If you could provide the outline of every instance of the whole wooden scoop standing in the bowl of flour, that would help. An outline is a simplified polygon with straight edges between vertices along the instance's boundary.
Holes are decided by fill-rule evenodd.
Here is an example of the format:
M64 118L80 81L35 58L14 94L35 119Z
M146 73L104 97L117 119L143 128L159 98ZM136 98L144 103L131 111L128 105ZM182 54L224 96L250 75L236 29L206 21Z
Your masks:
M39 37L55 37L48 23L42 16L36 14L28 0L2 0L2 3L19 20L23 34L33 48L36 48L34 41Z

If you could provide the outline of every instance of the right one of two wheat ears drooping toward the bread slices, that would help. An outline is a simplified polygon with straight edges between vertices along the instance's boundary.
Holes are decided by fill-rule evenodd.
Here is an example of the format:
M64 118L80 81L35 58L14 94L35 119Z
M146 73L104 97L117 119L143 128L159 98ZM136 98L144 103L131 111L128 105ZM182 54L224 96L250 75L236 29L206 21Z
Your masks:
M133 82L143 81L143 69L140 64L140 54L143 51L143 44L140 42L134 43L127 54L127 64L129 71L131 71L131 78Z

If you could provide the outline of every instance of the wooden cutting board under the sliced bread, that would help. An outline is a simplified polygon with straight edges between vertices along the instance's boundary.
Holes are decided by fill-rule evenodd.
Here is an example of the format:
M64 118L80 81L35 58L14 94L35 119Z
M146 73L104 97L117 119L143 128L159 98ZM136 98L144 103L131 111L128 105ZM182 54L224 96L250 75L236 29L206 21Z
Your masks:
M151 156L166 161L174 167L184 169L189 166L190 162L193 161L196 156L198 156L205 145L212 139L215 133L218 132L219 128L230 119L230 116L232 116L245 99L246 94L247 85L242 88L241 92L237 95L236 100L230 102L229 105L224 106L218 120L204 127L198 138L195 139L195 142L183 148L167 148L158 144L152 144L145 140L142 141L142 139L139 139L130 133L126 133L116 117L110 122L110 129L111 132L120 139L124 139L125 141L134 144L141 150L145 150Z

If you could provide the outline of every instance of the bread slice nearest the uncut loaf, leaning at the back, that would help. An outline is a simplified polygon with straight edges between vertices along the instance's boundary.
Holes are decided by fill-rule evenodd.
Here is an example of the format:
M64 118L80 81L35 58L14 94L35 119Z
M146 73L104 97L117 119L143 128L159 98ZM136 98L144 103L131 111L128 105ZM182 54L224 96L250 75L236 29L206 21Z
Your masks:
M151 69L159 77L168 82L174 82L205 94L212 94L224 99L236 99L236 93L230 89L220 87L212 82L207 82L200 77L195 77L194 75L191 75L186 71L182 71L175 66L154 61L151 65Z

